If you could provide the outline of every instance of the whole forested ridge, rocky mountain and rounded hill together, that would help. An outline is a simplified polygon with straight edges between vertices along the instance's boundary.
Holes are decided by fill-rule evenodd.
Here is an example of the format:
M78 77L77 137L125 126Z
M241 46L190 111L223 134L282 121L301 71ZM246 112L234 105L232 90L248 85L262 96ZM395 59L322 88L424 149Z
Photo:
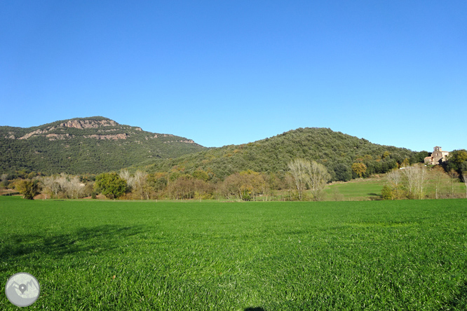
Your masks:
M299 128L248 144L206 148L185 137L147 132L102 116L27 128L1 126L0 146L0 173L99 174L129 167L148 172L204 170L224 179L245 170L283 176L290 160L305 158L325 165L333 180L346 180L348 174L356 178L351 172L355 162L365 163L369 175L398 167L405 158L423 161L421 153L407 148L372 144L329 128Z

